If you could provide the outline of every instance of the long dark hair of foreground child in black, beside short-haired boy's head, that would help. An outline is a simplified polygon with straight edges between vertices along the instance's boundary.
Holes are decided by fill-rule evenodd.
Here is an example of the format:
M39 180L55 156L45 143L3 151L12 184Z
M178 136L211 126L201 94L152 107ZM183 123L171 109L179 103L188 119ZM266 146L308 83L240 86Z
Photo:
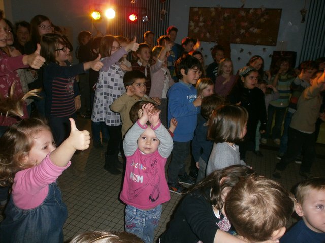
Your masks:
M241 177L256 175L247 166L233 165L221 170L215 170L198 184L189 189L190 194L203 196L209 204L222 209L224 201L221 193L226 187L234 187ZM257 176L257 175L256 175ZM222 180L222 182L221 182Z

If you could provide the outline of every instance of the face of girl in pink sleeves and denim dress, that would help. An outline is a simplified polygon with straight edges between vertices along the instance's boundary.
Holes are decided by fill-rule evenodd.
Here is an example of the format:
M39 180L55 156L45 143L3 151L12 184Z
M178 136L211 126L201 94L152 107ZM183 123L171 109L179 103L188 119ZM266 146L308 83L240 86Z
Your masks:
M25 157L25 164L35 166L55 149L54 139L49 130L39 131L33 138L34 145Z

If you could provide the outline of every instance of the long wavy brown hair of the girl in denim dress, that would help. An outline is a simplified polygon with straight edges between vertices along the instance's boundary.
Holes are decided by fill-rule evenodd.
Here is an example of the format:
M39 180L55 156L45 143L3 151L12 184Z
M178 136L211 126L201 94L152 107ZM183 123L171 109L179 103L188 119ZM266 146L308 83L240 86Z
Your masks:
M31 167L22 163L34 145L34 137L42 130L51 131L44 120L23 119L12 126L0 137L0 186L10 186L15 174Z

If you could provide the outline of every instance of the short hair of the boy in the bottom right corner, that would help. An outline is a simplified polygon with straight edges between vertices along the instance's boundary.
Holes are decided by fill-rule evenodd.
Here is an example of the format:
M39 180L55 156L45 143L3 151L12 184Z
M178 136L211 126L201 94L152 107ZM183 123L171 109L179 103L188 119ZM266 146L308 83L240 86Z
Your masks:
M311 190L325 190L325 178L315 177L300 182L294 190L297 202L303 204Z

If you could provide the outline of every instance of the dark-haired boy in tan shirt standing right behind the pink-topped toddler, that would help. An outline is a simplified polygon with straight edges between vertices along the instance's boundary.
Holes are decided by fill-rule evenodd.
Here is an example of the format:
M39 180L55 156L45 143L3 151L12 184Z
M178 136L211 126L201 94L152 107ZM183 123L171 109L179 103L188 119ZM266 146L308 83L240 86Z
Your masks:
M139 100L154 101L146 95L146 76L139 70L128 71L124 74L123 83L126 92L114 100L111 110L120 113L122 120L122 137L131 128L130 109Z

